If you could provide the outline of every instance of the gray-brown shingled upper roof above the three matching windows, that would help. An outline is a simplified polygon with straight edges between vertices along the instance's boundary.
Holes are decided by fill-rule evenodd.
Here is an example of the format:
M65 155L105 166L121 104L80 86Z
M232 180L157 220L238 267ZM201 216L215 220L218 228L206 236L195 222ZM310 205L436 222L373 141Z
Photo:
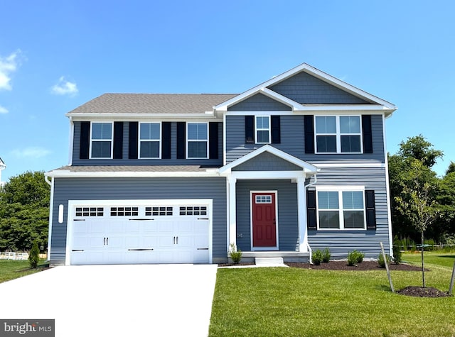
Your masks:
M204 114L237 94L102 94L68 114Z

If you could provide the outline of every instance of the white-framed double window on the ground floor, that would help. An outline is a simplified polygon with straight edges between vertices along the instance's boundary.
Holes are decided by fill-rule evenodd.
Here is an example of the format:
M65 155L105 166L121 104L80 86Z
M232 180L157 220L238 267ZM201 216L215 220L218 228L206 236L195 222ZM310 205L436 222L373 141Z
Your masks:
M316 189L318 229L366 229L365 192L359 187Z

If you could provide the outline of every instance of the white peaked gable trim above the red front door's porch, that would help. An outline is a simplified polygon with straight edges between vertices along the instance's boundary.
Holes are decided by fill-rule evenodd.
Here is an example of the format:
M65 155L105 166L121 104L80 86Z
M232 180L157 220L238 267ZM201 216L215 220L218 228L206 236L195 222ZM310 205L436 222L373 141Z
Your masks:
M228 173L230 170L232 170L233 167L236 167L240 164L243 164L244 162L247 162L248 160L251 160L252 158L257 157L258 155L261 155L264 152L271 153L272 155L276 155L279 158L282 158L283 160L286 160L287 162L290 162L291 164L294 164L296 166L301 167L301 169L304 172L308 173L316 173L318 171L318 167L311 165L309 162L305 162L304 160L300 160L299 158L294 157L293 155L289 155L289 153L285 153L282 150L279 150L277 148L274 148L271 145L264 145L257 150L254 150L247 155L244 155L241 158L238 158L237 160L234 160L230 162L229 164L224 165L223 167L220 167L220 175L223 175L223 173Z

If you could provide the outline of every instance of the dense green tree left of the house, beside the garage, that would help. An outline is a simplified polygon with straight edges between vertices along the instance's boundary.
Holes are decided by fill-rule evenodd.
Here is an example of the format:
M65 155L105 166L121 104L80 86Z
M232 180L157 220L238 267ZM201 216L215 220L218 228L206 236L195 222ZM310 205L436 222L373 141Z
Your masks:
M11 177L0 192L0 250L43 250L48 242L50 187L44 172Z

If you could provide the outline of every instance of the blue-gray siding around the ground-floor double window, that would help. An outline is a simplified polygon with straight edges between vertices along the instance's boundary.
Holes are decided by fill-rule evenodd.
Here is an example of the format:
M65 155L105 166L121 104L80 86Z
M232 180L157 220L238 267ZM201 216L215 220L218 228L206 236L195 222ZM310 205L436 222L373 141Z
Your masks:
M309 230L308 241L313 250L328 247L332 258L346 258L349 251L360 250L365 258L378 258L380 241L389 249L389 223L387 220L387 189L385 168L323 169L318 173L321 185L362 185L375 191L376 230L367 231L316 231ZM314 187L310 187L314 189Z

